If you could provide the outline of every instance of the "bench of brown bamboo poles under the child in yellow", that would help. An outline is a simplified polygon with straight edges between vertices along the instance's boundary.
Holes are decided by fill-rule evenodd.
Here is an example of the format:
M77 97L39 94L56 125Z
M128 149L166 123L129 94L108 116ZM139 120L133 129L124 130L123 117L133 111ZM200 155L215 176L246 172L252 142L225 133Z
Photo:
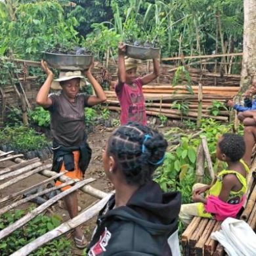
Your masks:
M240 219L246 221L256 231L256 185L255 179L248 193L248 200ZM211 239L211 233L221 229L221 222L194 217L181 236L184 256L222 256L224 247Z

